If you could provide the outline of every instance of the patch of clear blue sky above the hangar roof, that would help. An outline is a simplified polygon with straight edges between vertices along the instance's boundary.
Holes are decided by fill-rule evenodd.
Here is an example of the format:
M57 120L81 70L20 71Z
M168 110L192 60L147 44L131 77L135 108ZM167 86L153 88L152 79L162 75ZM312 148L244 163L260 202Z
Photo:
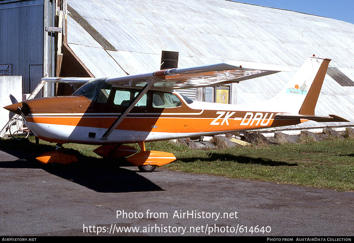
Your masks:
M277 9L292 10L354 24L354 0L234 0Z

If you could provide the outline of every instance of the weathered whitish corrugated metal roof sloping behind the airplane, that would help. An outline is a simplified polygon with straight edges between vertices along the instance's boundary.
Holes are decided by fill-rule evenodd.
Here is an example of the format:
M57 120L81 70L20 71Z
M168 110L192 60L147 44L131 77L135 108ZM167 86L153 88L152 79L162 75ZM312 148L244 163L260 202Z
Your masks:
M96 77L159 69L161 50L178 51L179 67L229 60L293 67L315 54L331 58L354 81L354 25L335 19L226 0L91 1L68 4L117 51L104 50L70 15L68 44ZM238 84L237 103L274 96L292 73ZM354 87L326 75L315 113L354 125ZM343 125L307 122L296 127Z

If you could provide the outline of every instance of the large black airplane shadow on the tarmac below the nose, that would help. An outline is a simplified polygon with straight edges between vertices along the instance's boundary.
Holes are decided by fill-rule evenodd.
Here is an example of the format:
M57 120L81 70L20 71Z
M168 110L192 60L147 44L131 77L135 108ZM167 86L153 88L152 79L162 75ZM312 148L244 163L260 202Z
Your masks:
M27 143L27 145L33 146L33 143ZM50 174L62 177L97 192L163 191L161 187L141 175L142 173L138 174L138 170L120 168L120 166L131 166L124 159L121 161L105 160L82 156L78 153L79 155L76 155L79 161L73 164L42 165L36 161L35 157L46 151L52 151L53 147L47 145L39 146L44 149L36 149L36 153L40 152L33 154L28 147L27 149L21 149L20 146L16 146L19 149L13 149L14 146L4 148L0 144L1 151L19 158L14 161L7 159L7 161L0 162L0 168L43 169ZM154 173L159 173L159 171L157 170Z

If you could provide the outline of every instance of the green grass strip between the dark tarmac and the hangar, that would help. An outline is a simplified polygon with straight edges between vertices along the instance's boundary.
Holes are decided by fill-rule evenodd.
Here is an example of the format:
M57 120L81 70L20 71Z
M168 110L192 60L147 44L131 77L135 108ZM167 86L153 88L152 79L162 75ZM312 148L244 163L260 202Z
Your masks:
M11 142L10 142L11 141ZM55 146L34 137L17 142L0 140L1 148L16 147L41 154ZM138 148L137 145L134 145ZM9 148L10 147L10 148ZM68 152L101 158L92 152L97 146L68 143ZM229 149L192 150L168 141L146 143L147 150L174 153L177 160L164 167L188 173L210 174L236 179L272 181L299 186L354 191L354 139L323 140L301 144L234 147Z

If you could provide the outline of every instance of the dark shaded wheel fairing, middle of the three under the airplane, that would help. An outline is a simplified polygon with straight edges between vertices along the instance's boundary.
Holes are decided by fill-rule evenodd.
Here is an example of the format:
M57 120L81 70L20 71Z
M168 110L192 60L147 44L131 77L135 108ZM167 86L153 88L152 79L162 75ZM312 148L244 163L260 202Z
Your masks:
M131 156L138 151L136 151L134 147L128 145L120 145L119 147L116 145L102 145L93 150L93 152L102 157L120 158Z

